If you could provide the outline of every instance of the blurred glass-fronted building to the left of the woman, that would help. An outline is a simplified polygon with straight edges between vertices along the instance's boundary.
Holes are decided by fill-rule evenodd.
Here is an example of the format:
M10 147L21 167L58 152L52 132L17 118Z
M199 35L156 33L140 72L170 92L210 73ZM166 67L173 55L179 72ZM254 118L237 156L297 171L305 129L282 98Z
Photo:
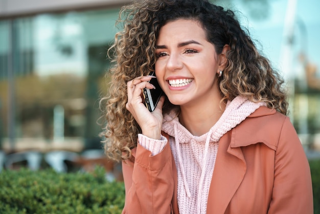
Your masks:
M0 0L0 141L6 151L101 148L98 98L128 0ZM70 146L69 146L70 145Z

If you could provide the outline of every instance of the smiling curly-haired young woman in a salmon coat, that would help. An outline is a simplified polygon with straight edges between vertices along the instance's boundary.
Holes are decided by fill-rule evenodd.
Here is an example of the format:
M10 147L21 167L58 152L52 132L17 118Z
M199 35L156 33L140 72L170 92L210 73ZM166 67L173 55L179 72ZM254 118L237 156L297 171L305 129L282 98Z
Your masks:
M237 21L205 0L123 7L105 97L123 213L313 213L310 169L283 80ZM153 112L142 90L155 71Z

